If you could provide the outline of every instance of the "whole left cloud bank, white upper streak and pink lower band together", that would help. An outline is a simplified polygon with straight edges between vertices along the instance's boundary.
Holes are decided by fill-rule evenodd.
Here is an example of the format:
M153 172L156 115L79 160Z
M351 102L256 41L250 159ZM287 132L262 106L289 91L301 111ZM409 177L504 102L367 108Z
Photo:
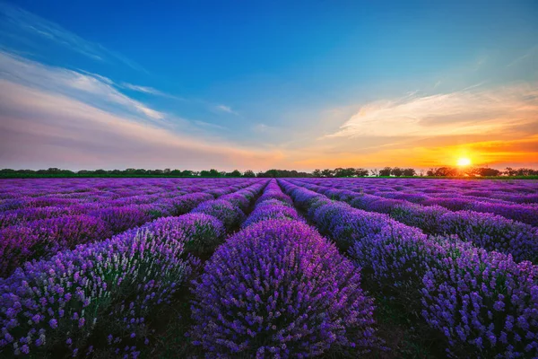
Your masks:
M83 73L0 51L0 163L4 167L182 167L217 165L261 169L282 153L230 144L191 121L169 126L173 115L152 109L108 77ZM198 127L196 134L186 132Z

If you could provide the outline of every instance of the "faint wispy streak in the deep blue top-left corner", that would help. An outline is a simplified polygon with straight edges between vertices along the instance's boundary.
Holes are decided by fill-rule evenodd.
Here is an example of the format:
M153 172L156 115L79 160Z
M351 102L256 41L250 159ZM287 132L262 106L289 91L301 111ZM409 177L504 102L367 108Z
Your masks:
M82 39L71 31L65 30L55 22L49 22L34 13L20 7L0 2L0 33L11 38L22 37L27 45L33 48L43 47L44 41L53 42L63 48L68 48L94 61L116 61L134 70L146 72L134 61L108 50L96 42ZM35 41L30 39L34 38Z

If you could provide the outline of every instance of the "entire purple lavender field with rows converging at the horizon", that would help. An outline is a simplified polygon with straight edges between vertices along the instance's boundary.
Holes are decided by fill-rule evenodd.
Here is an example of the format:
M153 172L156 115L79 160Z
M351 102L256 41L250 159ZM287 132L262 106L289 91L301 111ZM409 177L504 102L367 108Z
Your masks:
M0 357L538 357L538 182L0 182Z

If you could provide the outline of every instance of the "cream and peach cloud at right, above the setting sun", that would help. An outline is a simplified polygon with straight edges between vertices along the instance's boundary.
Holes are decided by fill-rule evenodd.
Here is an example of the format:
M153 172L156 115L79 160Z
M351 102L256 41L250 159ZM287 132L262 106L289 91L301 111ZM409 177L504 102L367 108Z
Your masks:
M334 137L436 137L498 134L508 127L536 121L538 84L377 101L363 106Z

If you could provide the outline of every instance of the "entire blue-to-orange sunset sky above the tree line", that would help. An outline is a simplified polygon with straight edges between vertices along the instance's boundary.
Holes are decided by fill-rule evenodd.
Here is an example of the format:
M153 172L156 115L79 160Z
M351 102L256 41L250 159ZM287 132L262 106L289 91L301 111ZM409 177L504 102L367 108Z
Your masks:
M535 0L0 0L1 168L461 157L538 167Z

